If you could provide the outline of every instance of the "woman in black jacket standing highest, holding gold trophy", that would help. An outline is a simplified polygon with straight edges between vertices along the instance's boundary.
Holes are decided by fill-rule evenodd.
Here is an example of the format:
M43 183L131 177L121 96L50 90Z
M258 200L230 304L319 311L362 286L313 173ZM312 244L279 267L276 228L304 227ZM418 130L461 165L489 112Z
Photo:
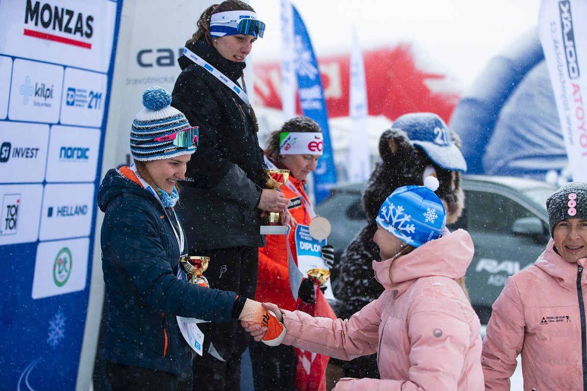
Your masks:
M171 103L200 127L198 154L188 162L183 182L181 222L190 254L211 259L211 287L254 297L258 247L265 244L261 213L285 212L288 203L281 192L263 188L266 166L242 72L265 23L248 4L227 0L205 9L197 26L178 60L182 72ZM238 390L248 333L234 321L205 324L203 332L194 386Z

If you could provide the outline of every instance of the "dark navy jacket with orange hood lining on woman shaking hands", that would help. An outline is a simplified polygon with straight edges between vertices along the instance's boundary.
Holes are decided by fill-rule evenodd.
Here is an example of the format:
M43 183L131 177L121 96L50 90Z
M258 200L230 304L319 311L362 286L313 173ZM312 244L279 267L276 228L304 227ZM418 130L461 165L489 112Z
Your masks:
M106 213L102 270L110 315L104 356L178 375L193 355L176 315L228 321L236 294L176 278L180 250L166 217L173 212L119 170L107 172L97 201Z

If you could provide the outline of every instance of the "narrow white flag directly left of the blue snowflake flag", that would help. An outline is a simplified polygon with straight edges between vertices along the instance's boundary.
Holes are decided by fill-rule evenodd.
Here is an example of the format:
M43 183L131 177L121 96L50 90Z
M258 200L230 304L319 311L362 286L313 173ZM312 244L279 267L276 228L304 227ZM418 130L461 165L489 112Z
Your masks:
M289 0L281 0L281 108L284 120L295 117L298 79L294 69L294 15Z

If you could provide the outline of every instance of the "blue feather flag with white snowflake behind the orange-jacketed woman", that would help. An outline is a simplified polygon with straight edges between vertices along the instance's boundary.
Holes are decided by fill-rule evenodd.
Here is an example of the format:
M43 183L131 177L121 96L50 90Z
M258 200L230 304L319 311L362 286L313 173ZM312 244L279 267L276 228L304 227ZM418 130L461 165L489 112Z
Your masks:
M322 128L324 144L322 158L318 168L314 172L315 200L321 202L328 196L329 189L336 183L336 170L332 156L332 144L330 143L330 131L328 128L328 113L324 101L322 79L318 70L318 62L312 49L312 42L308 36L306 26L298 10L292 5L292 19L294 21L294 54L295 70L298 76L298 94L302 113L312 118Z

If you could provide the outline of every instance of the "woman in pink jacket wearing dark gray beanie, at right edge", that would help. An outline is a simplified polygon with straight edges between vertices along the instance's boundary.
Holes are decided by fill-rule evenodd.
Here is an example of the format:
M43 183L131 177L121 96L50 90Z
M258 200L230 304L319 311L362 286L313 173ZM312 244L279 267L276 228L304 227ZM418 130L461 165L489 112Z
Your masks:
M486 390L510 389L520 353L524 390L587 390L587 182L562 186L546 209L546 250L493 304L481 361Z

